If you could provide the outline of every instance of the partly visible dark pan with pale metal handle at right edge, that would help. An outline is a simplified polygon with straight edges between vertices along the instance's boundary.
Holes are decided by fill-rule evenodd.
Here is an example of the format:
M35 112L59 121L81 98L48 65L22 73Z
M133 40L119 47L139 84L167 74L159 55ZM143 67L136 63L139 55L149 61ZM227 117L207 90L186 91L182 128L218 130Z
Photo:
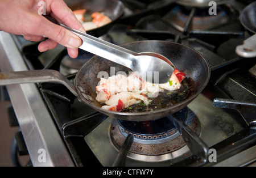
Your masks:
M241 57L256 57L256 2L250 3L240 14L242 26L253 35L237 46L236 53Z

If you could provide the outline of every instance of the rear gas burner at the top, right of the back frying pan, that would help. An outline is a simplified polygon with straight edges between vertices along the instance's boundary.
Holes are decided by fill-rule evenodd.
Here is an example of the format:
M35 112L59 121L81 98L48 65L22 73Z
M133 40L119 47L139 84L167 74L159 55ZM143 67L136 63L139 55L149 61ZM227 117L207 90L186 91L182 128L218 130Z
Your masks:
M191 17L192 20L190 23L192 30L215 28L229 22L230 20L224 6L217 6L216 15L209 15L208 11L209 7L195 9L177 5L168 12L163 19L181 32L184 32L184 28L187 28L187 23Z

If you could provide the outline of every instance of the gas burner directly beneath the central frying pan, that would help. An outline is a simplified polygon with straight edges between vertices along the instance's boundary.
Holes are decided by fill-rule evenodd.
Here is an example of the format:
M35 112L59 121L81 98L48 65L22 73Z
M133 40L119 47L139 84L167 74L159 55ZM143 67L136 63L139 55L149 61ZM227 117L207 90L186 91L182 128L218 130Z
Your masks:
M200 134L195 113L186 107L177 112L177 115L193 132ZM128 156L135 160L146 159L148 162L155 162L185 155L188 151L188 148L184 147L186 144L180 133L167 117L146 122L121 120L112 122L110 137L117 150L120 149L128 134L134 136Z

